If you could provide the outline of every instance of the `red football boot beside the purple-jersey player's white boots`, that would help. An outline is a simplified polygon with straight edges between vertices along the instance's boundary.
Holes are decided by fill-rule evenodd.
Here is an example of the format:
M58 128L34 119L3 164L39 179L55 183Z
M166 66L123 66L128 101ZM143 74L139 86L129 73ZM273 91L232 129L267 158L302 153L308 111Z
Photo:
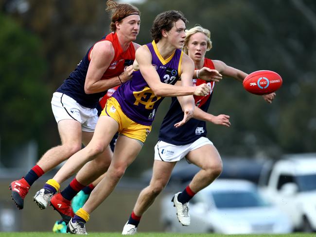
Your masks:
M60 193L57 193L52 197L51 205L54 210L58 211L67 225L70 219L74 216L70 206L70 201L65 199Z

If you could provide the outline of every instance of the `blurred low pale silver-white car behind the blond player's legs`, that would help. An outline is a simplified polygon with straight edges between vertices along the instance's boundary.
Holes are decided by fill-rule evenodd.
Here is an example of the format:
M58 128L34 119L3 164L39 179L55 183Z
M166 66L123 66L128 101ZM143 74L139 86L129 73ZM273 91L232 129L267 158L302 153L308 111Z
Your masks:
M173 194L161 203L161 221L167 232L259 234L291 233L288 217L266 203L257 186L246 180L215 180L190 201L191 224L182 226L171 202Z

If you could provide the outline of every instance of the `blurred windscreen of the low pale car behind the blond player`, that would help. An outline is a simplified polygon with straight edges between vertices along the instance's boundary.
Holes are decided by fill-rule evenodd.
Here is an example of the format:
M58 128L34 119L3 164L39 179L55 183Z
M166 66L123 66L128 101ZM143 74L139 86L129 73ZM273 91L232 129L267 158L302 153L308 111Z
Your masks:
M255 191L216 191L212 192L217 208L243 208L267 206Z

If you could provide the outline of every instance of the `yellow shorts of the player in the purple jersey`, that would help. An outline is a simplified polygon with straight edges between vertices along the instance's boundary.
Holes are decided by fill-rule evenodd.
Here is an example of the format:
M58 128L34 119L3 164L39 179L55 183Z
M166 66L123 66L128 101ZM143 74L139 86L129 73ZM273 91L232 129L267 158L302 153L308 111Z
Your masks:
M106 104L105 108L102 110L100 116L109 116L112 119L115 119L119 124L118 132L124 136L140 140L145 142L147 135L151 131L151 126L141 125L137 122L134 122L132 119L129 119L122 111L119 102L110 97Z

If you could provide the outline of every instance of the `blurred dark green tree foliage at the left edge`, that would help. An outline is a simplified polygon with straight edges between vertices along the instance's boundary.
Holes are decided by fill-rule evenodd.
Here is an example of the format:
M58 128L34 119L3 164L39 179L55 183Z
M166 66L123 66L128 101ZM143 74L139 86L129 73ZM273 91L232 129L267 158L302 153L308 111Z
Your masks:
M39 139L50 115L49 91L42 83L46 63L38 37L0 15L1 152Z

